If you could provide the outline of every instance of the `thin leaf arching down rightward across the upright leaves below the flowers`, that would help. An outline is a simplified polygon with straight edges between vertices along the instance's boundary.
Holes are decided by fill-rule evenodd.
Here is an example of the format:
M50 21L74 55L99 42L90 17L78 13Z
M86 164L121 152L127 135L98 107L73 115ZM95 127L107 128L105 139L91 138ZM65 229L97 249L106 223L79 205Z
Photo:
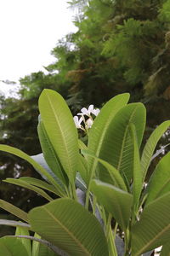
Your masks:
M95 160L99 161L100 164L102 164L103 166L105 166L105 169L108 171L109 175L107 175L107 177L109 177L111 180L108 183L112 183L118 187L119 189L125 190L127 191L127 187L124 183L124 180L121 176L121 174L116 170L116 168L114 166L111 166L108 162L106 162L105 160L101 160L98 157L95 157L93 154L88 153L87 151L83 150L82 154L88 155L88 157L92 157ZM107 173L107 172L105 172Z

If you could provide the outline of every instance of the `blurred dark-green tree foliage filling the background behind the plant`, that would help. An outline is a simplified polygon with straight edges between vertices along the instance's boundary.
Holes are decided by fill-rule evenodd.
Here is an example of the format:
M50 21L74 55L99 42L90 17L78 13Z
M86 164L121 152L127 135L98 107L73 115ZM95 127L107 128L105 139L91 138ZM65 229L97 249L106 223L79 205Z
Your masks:
M101 107L128 91L131 102L144 102L147 108L146 137L169 119L170 0L72 0L70 5L77 9L77 32L56 44L52 50L56 61L46 67L48 74L31 73L20 79L20 99L0 99L0 143L31 155L41 152L37 99L44 88L64 96L73 113L92 103ZM12 155L1 154L0 164L2 178L35 175L31 166ZM26 190L1 184L0 193L25 210L33 207L34 203L24 203ZM38 196L37 201L42 203Z

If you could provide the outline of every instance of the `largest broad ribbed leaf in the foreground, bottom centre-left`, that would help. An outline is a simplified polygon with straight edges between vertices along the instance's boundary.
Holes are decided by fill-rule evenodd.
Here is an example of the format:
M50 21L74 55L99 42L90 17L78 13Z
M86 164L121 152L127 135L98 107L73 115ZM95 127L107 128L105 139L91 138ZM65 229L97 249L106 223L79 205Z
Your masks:
M79 203L59 199L28 214L31 228L71 256L108 256L98 220Z

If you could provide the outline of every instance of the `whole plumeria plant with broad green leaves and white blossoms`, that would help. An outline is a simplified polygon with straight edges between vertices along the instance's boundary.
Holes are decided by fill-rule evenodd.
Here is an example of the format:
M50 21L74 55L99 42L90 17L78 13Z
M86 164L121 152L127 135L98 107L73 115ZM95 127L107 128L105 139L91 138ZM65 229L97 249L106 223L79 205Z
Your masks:
M42 153L29 156L6 145L0 150L27 160L44 179L4 182L32 189L48 203L27 213L0 200L0 207L21 220L0 221L21 229L0 239L0 255L8 250L15 256L14 245L17 256L139 256L160 246L161 256L168 255L170 153L161 158L149 183L144 180L170 121L156 127L142 150L145 108L142 103L127 104L128 99L128 93L115 96L100 111L90 105L73 118L62 96L42 91L37 127ZM87 145L78 138L77 128L88 131Z

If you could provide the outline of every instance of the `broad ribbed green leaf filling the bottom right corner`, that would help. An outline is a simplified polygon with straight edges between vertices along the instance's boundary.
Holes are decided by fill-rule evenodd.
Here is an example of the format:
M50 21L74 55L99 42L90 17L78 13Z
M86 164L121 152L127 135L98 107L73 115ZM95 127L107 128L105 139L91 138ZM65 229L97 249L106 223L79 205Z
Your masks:
M169 242L170 192L152 201L132 227L132 255L150 251Z

